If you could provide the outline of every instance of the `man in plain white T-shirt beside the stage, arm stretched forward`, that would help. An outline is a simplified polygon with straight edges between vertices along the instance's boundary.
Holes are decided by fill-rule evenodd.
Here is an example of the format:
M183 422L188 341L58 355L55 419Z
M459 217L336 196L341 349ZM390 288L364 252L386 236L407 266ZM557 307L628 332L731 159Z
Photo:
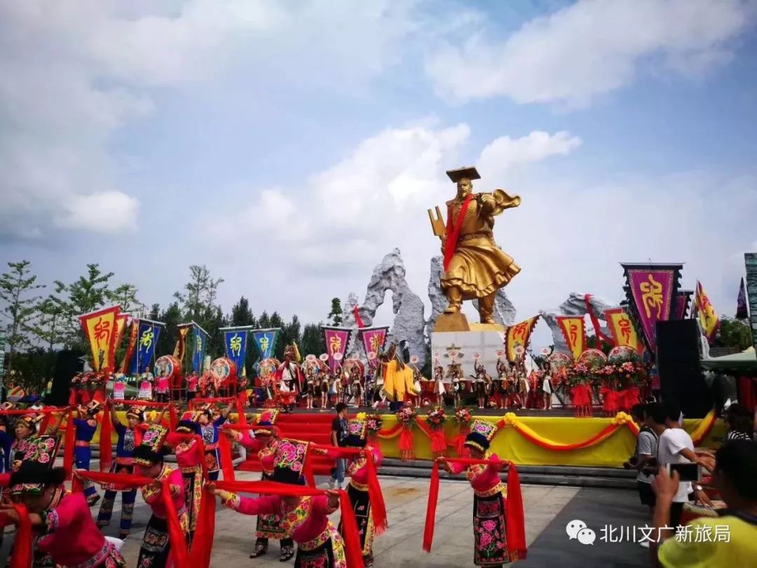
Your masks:
M691 436L678 423L678 418L681 416L681 407L678 406L678 402L667 400L664 407L667 429L659 437L657 454L659 467L664 468L667 463L702 463L694 453L694 443ZM678 492L674 495L671 504L671 526L680 524L681 511L684 510L684 503L689 501L689 494L692 492L694 492L694 489L690 481L682 481L678 485ZM710 503L709 498L701 488L696 489L696 499Z

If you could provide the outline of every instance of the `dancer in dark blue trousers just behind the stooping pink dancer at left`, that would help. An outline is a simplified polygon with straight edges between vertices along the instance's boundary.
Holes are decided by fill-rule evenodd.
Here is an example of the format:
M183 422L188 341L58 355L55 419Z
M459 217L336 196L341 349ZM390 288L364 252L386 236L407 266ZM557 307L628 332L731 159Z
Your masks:
M103 417L103 420L107 419L107 417ZM123 426L118 419L116 409L111 406L110 420L118 435L116 459L111 464L111 473L134 473L134 450L142 443L142 434L148 429L148 425L145 424L145 412L140 407L129 407L129 410L126 410L126 426ZM105 486L105 493L97 516L97 524L100 528L111 524L116 494L117 491L112 485ZM127 489L121 492L121 523L118 538L122 540L129 536L129 530L132 528L136 497L136 489Z

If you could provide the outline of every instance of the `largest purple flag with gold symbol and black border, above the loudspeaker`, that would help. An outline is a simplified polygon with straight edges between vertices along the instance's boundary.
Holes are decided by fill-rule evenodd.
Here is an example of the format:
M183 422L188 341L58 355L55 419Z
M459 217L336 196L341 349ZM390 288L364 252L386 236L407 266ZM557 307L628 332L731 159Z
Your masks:
M621 264L625 270L630 315L656 352L656 324L671 319L683 264Z

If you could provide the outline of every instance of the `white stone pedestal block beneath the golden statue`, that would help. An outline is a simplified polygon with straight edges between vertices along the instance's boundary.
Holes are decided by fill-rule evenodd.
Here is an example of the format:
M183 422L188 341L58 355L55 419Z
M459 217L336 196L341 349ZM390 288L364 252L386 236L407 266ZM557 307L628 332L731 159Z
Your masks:
M441 320L441 317L439 317ZM438 323L437 323L438 325ZM473 326L482 326L483 324L472 324ZM495 326L487 326L492 328ZM500 326L497 326L500 327ZM497 351L504 351L504 331L497 329L484 329L480 331L471 330L466 332L432 332L431 333L431 363L436 366L437 361L435 354L439 354L439 361L444 367L444 374L450 366L450 357L444 357L448 354L448 349L453 347L463 354L462 358L457 359L463 367L463 375L466 379L473 375L473 354L481 354L478 361L484 366L486 372L494 379L497 376ZM504 358L504 357L503 357ZM432 375L433 376L433 375ZM444 382L450 382L450 379L444 379Z

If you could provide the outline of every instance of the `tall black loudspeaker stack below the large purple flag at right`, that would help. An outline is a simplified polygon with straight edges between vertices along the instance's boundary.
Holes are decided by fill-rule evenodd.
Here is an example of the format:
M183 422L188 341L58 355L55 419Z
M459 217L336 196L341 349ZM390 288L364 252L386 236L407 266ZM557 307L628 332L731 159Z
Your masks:
M662 399L674 399L687 418L712 410L712 393L699 364L699 329L694 320L657 322L657 370Z

